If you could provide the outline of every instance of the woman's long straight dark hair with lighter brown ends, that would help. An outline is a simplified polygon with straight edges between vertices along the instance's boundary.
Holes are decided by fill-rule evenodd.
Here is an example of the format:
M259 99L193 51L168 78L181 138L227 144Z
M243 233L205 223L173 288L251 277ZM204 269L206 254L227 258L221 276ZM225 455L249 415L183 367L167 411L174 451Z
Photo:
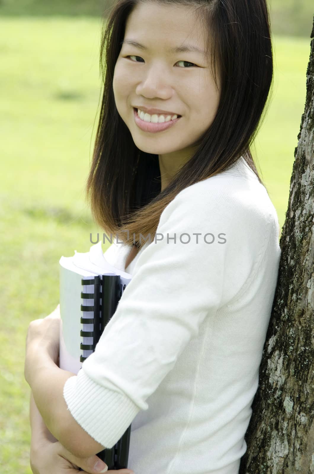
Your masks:
M146 1L151 0L116 0L104 19L100 50L104 90L86 184L96 223L107 236L119 236L138 248L148 235L153 240L162 211L180 191L222 173L241 156L265 186L249 146L265 117L273 78L266 0L154 0L160 5L195 7L208 31L206 52L216 85L217 74L221 78L220 102L212 125L198 140L194 155L161 191L158 155L135 145L117 111L112 88L127 18Z

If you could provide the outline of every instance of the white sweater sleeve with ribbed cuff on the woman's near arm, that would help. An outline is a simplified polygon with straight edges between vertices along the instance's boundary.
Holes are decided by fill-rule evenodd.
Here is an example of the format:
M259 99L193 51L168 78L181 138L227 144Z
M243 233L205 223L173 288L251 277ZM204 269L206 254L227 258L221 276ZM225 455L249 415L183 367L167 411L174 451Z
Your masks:
M95 351L65 383L68 410L104 447L148 409L204 319L237 299L265 248L269 215L226 191L196 191L166 206Z

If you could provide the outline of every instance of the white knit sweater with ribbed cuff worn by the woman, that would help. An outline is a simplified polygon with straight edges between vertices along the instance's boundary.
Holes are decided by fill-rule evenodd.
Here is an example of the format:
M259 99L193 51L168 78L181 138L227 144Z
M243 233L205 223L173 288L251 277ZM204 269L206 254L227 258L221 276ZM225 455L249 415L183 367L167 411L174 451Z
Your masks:
M240 158L181 191L157 234L65 401L104 447L132 423L135 474L238 474L277 283L276 210ZM105 256L124 269L129 251Z

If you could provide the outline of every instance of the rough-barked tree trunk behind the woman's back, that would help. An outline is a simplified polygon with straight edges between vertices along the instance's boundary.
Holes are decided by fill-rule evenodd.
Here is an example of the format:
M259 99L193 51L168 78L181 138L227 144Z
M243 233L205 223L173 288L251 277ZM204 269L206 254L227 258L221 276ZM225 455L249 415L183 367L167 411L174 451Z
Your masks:
M314 39L298 140L240 474L314 473Z

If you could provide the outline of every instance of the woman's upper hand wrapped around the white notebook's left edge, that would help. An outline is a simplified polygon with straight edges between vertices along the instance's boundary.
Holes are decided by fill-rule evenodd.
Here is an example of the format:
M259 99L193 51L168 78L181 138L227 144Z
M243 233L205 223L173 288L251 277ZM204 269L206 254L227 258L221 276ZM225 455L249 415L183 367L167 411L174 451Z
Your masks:
M60 346L60 305L44 319L34 319L28 326L24 365L25 380L30 382L31 369L38 354L46 351L53 362L59 366Z

